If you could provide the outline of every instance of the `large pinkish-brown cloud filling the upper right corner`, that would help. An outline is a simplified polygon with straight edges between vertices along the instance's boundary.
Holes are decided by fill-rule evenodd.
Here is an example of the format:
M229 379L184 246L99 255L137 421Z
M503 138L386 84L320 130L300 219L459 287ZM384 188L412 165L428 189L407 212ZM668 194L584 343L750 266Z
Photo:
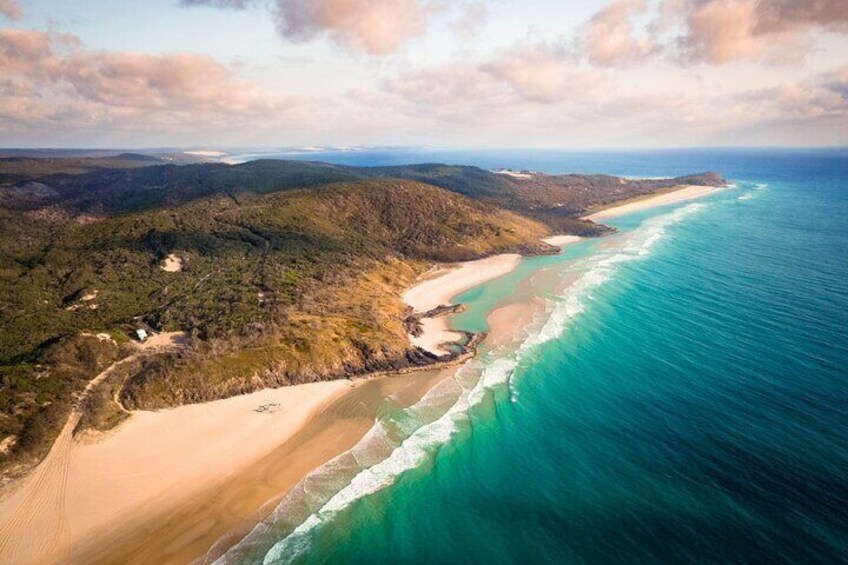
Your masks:
M717 65L738 59L797 63L812 29L848 31L844 0L666 0L665 11L685 26L677 40L683 56Z

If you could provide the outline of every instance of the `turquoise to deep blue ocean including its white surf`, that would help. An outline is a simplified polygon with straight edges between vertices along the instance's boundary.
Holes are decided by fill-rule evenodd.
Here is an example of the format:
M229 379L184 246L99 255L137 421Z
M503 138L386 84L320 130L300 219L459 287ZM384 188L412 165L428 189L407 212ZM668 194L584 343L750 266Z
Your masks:
M537 306L414 406L387 400L223 562L848 562L848 151L286 157L734 185L457 297L475 331Z

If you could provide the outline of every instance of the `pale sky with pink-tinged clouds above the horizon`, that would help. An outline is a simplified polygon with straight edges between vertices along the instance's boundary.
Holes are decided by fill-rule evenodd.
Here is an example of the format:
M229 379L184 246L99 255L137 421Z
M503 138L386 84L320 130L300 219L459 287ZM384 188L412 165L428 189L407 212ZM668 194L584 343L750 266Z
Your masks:
M848 145L848 0L0 0L0 146Z

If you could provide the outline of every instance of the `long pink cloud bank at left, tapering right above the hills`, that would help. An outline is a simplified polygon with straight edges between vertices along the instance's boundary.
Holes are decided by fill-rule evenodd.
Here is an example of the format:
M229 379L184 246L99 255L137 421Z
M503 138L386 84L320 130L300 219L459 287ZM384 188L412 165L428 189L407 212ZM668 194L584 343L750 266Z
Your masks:
M90 51L51 32L0 30L0 77L0 129L261 127L303 109L207 55Z

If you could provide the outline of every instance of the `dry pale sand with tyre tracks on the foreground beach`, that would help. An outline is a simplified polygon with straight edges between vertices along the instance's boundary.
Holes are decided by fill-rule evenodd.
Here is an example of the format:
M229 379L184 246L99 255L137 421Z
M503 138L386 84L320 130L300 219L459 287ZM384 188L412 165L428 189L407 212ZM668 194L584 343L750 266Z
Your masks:
M64 561L130 518L164 519L249 468L351 386L312 383L135 412L96 442L74 440L75 414L48 457L0 501L0 562Z

